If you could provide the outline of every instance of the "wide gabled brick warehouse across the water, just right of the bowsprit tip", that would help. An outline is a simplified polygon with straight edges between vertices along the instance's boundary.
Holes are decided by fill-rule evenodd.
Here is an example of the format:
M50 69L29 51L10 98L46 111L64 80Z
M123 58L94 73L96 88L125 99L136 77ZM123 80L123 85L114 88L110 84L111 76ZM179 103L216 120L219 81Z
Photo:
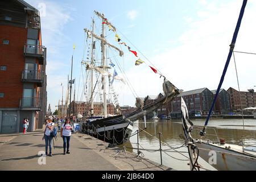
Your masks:
M172 118L181 118L180 102L183 97L189 115L195 116L195 114L207 115L210 110L210 106L213 101L213 93L208 88L201 88L196 90L190 90L181 93L177 96L172 103Z

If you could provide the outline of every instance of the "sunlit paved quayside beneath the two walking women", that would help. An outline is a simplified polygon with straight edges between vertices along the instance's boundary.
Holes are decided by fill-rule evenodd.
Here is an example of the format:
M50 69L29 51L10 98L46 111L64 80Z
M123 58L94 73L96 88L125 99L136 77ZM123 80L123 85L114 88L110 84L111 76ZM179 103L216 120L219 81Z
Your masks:
M53 156L46 156L46 164L40 165L38 152L45 150L42 137L43 130L27 134L1 134L0 170L172 170L145 158L140 160L128 151L116 155L121 148L109 148L108 143L80 133L72 134L71 154L66 155L63 155L63 140L58 134L55 149L52 149Z

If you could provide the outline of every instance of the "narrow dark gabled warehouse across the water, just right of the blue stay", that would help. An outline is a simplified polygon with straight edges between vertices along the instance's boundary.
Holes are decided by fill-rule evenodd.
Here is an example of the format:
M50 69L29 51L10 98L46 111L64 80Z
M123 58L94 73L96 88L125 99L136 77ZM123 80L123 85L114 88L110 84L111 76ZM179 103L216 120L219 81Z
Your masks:
M213 96L215 96L217 90L212 90ZM232 111L230 96L225 89L220 89L217 100L214 105L214 113L216 114L228 114Z

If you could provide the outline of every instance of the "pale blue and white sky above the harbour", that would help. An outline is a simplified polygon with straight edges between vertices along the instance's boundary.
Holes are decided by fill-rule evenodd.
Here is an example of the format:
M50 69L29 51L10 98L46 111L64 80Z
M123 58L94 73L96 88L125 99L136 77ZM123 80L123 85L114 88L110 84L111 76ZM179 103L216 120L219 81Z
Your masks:
M26 2L38 9L41 15L42 42L47 47L47 100L52 110L61 101L63 88L65 100L72 55L72 78L76 78L78 93L76 100L84 99L81 75L85 73L85 67L81 66L81 61L86 59L88 51L84 28L91 27L92 18L99 20L94 10L104 13L117 27L122 41L138 52L138 57L135 57L117 42L112 42L125 53L119 64L125 70L135 96L146 97L163 92L163 77L152 72L148 65L158 69L184 91L205 87L216 90L242 6L242 0ZM235 51L256 52L255 17L256 0L249 0ZM100 26L96 27L98 32ZM240 88L256 89L256 55L235 53L235 57ZM135 66L138 58L145 63ZM121 72L118 75L125 77ZM135 97L128 84L114 84L120 105L134 106ZM233 57L222 88L227 90L230 86L238 89Z

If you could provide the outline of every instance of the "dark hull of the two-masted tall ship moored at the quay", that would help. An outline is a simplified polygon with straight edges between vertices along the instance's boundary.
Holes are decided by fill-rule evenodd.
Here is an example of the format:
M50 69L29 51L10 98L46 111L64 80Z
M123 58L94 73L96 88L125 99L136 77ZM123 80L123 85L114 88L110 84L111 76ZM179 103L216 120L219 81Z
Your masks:
M82 124L83 133L92 135L108 143L121 144L127 142L130 139L132 131L133 123L123 117L123 115L97 119Z

